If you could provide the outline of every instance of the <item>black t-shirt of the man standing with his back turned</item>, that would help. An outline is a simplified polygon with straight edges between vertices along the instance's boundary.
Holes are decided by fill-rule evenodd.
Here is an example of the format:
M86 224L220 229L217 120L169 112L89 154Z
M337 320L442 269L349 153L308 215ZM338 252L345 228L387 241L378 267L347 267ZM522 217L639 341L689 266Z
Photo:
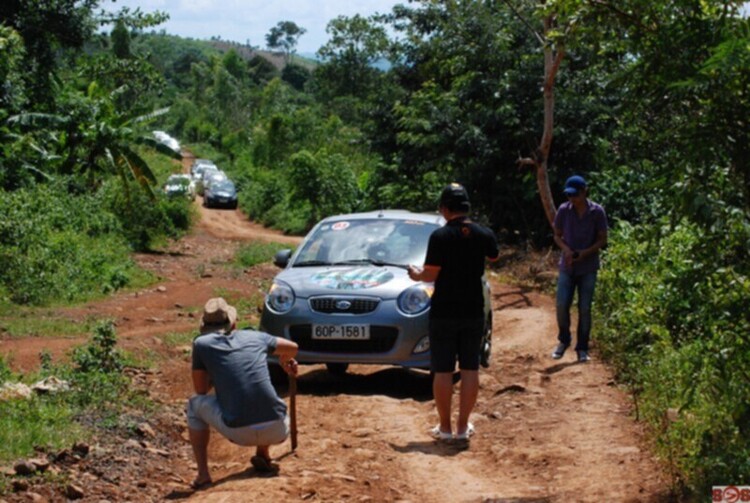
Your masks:
M430 235L425 265L440 267L430 307L431 318L481 318L485 257L499 250L491 230L458 217Z

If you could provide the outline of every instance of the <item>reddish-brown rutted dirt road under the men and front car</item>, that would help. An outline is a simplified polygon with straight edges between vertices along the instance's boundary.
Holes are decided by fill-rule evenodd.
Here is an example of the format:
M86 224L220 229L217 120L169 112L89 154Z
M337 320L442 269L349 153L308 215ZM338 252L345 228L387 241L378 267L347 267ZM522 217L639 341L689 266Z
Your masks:
M148 484L138 483L149 492L123 494L125 499L667 500L668 484L633 420L630 399L596 351L587 364L575 363L572 354L551 360L552 300L494 279L494 352L491 367L480 373L472 417L477 434L468 448L437 443L427 435L437 421L427 373L354 365L344 377L334 377L323 366L308 366L302 367L298 381L299 447L294 453L288 442L271 448L281 467L278 475L256 473L249 468L249 449L214 435L214 485L191 492L185 482L193 477L194 463L181 416L191 393L189 347L165 341L168 334L195 329L201 306L214 295L240 306L240 325L255 323L276 269L264 264L243 271L227 263L246 241L298 241L252 224L239 212L201 208L201 214L195 232L168 253L138 257L162 278L159 285L63 312L71 318L112 317L126 349L158 355L158 368L145 379L151 396L173 412L172 424L157 427L157 435L169 445L169 468L146 475ZM13 354L14 366L28 370L37 365L42 348L64 357L82 340L5 340L0 349ZM111 494L117 493L97 494L116 500Z

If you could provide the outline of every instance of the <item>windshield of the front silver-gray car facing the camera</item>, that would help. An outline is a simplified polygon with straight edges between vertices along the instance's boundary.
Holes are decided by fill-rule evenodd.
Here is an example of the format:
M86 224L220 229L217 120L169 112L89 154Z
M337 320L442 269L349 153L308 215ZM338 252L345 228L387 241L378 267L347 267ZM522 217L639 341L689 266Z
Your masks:
M293 267L422 264L437 228L418 220L383 218L326 222L306 241Z

